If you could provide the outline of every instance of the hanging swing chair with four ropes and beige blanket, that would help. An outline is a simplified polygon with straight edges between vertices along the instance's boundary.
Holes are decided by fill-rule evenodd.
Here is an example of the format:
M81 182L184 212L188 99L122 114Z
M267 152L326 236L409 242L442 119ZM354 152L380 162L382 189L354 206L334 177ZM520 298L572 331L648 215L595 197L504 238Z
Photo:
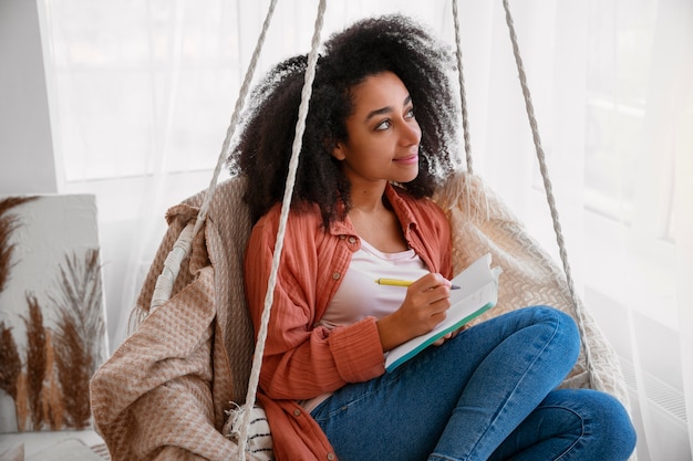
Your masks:
M319 3L308 57L273 272L257 344L241 275L251 230L249 210L242 201L247 184L242 176L220 184L217 178L228 157L230 139L275 6L276 0L272 0L209 188L168 210L168 230L133 312L136 329L92 379L95 427L114 461L272 459L272 440L276 442L277 438L269 433L263 411L256 404L260 358L316 71L325 0ZM451 221L454 272L461 272L488 252L494 264L503 269L497 307L479 321L535 304L549 304L570 314L580 329L582 348L562 387L602 390L628 407L618 358L575 293L507 0L504 0L504 8L563 266L559 268L552 261L513 212L473 172L457 4L453 1L467 168L441 185L435 200ZM261 399L259 402L262 404ZM273 450L281 453L279 443Z

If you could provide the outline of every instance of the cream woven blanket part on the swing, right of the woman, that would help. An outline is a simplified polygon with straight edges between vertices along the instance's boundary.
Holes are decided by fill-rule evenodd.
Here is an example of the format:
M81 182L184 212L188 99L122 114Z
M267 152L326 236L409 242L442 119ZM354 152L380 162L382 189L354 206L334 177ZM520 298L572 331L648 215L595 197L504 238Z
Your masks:
M537 304L566 312L576 318L583 346L590 350L592 376L589 376L586 366L583 347L562 387L603 390L628 408L625 381L611 344L582 304L577 306L581 314L577 315L563 272L505 203L479 177L465 172L454 176L442 187L436 201L448 214L453 228L454 272L461 272L487 252L492 253L494 265L503 268L498 304L478 317L476 323L517 307Z

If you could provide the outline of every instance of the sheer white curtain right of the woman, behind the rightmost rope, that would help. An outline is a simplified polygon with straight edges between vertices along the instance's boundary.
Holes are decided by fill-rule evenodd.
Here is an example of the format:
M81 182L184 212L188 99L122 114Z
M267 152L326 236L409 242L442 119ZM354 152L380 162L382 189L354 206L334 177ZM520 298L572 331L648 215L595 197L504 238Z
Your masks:
M639 459L691 460L693 4L511 7L569 260L621 357ZM556 252L504 32L480 76L488 116L476 151L482 175Z

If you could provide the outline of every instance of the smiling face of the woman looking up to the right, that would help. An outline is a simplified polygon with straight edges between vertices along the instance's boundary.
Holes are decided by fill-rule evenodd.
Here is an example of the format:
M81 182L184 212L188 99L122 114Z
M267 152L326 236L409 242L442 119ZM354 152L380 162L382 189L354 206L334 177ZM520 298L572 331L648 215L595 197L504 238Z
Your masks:
M394 73L382 72L352 87L352 95L348 138L332 151L352 186L416 178L421 128L404 83Z

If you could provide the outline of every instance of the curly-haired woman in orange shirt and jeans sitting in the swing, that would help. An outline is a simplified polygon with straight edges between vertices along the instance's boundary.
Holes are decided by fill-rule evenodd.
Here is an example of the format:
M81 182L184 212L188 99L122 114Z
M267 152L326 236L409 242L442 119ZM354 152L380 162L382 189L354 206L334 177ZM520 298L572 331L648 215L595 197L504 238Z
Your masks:
M318 62L260 375L276 454L349 460L625 460L635 436L602 392L556 390L579 335L530 307L438 342L392 373L393 347L449 307L451 230L428 197L455 164L445 49L402 17L332 36ZM256 91L230 159L248 176L246 292L259 326L306 57ZM415 280L381 286L380 276Z

